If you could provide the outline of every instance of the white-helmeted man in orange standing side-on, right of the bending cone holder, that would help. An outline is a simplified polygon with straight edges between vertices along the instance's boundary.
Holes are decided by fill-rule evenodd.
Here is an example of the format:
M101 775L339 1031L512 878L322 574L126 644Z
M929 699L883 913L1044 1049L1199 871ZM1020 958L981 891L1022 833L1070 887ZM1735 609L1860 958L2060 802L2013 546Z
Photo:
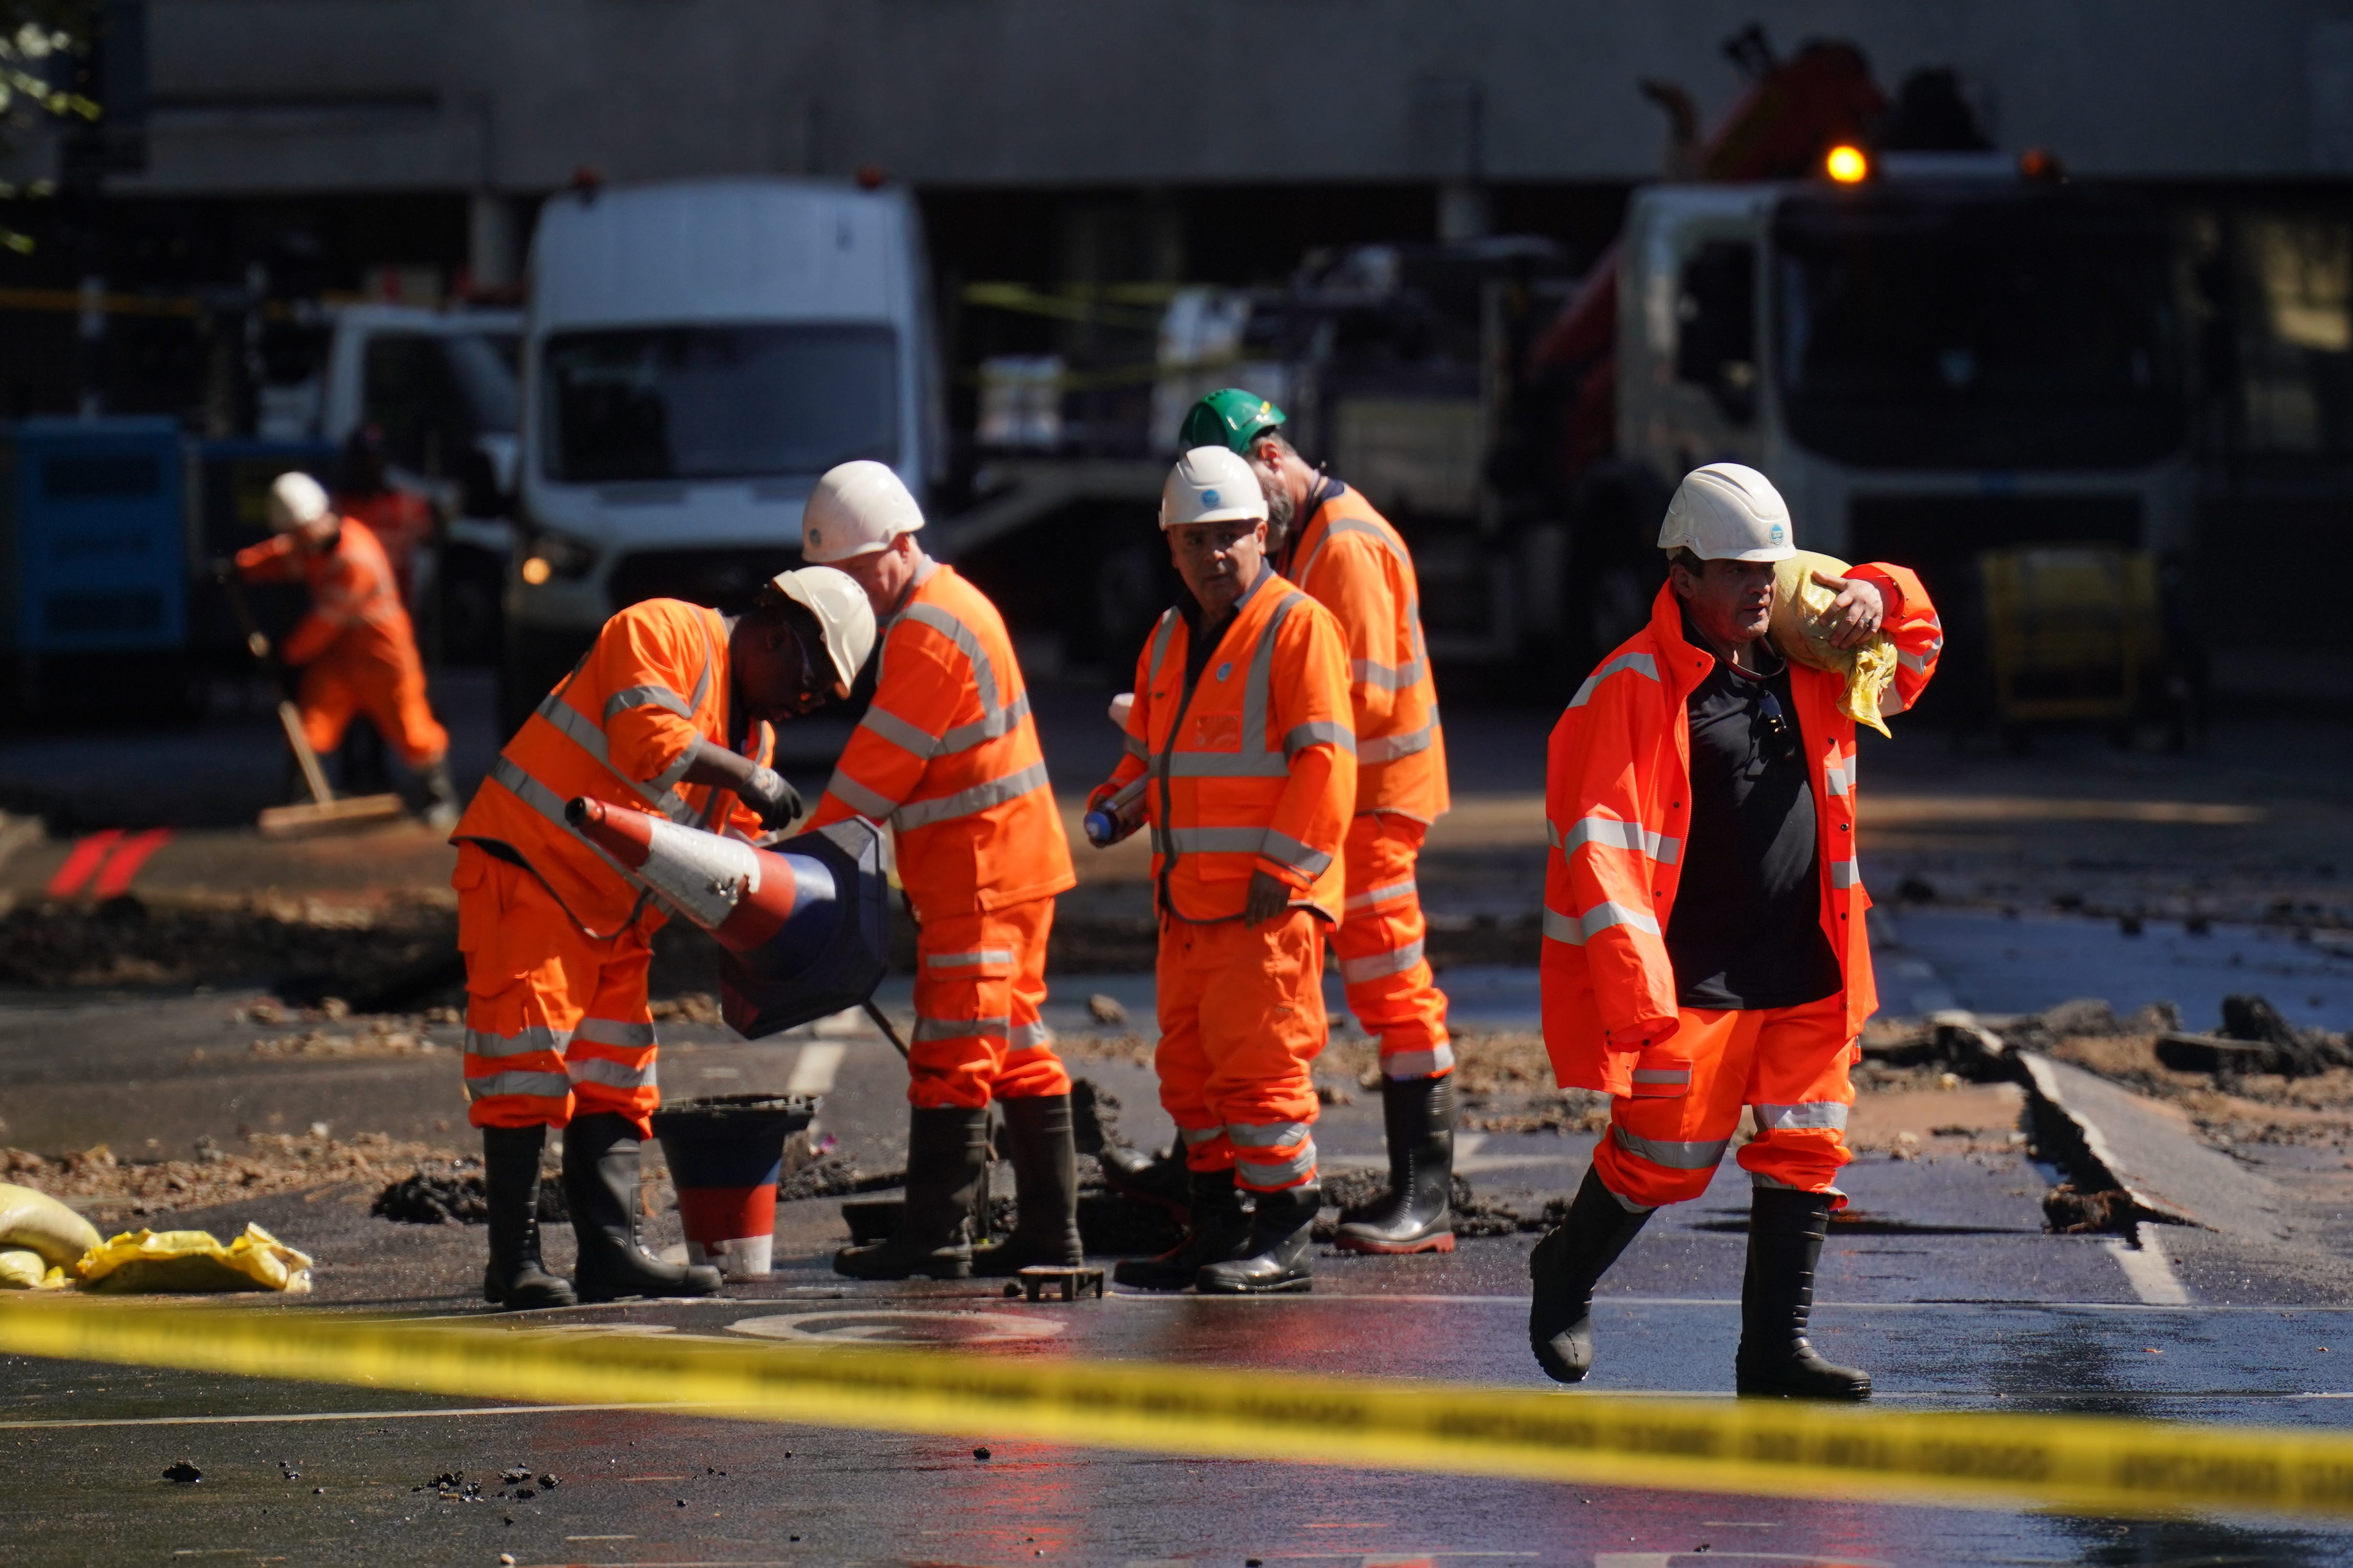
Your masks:
M1071 1074L1040 1020L1071 844L1005 618L922 552L918 529L915 496L871 461L826 473L800 524L802 555L856 578L882 623L873 705L809 823L889 823L915 912L906 1208L887 1241L835 1255L854 1279L1082 1262ZM1005 1107L1019 1220L974 1246L991 1103Z

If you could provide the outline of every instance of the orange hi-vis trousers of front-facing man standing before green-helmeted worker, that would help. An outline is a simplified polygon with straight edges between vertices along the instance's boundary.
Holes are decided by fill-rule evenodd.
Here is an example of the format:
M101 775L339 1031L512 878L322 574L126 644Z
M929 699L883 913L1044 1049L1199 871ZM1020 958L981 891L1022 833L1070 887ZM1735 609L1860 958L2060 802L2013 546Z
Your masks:
M1153 1067L1188 1168L1231 1168L1249 1192L1315 1180L1322 945L1325 922L1311 910L1264 926L1160 924Z

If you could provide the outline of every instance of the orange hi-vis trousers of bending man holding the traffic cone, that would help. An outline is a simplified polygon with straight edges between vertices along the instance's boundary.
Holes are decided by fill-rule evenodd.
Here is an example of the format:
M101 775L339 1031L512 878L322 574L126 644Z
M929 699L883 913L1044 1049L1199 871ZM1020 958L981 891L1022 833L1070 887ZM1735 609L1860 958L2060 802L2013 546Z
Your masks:
M456 945L466 954L466 1119L565 1126L621 1112L652 1138L661 1107L645 971L659 917L609 943L584 933L532 872L459 844Z

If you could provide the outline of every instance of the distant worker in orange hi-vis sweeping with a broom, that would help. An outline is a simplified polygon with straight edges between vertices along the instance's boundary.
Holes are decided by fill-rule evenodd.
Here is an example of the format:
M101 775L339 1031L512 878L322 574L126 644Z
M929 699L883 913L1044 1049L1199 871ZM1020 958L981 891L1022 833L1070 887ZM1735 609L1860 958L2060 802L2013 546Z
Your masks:
M254 583L304 581L311 614L287 632L278 656L301 670L294 708L318 755L344 743L351 719L367 715L419 778L426 820L456 820L449 783L449 731L426 703L416 630L393 583L384 545L365 522L344 517L306 473L271 484L273 536L238 550L238 574Z

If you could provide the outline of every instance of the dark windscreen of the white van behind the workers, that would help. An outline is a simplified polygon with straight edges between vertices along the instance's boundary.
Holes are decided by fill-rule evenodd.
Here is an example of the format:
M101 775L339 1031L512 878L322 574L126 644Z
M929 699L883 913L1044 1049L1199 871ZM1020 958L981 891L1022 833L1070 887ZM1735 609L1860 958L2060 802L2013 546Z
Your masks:
M551 334L541 470L558 484L821 475L899 461L889 327L701 324Z

